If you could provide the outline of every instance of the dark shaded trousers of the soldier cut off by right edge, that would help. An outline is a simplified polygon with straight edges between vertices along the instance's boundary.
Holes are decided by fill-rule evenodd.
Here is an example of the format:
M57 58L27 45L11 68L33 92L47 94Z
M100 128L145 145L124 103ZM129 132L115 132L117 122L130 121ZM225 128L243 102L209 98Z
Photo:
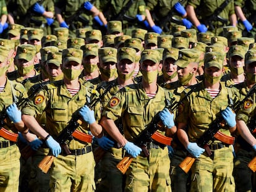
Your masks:
M252 172L247 166L249 162L256 156L254 150L246 151L238 149L236 159L234 161L234 179L237 191L255 191L256 186L253 184L253 178L256 178L256 173ZM253 188L254 186L254 188Z

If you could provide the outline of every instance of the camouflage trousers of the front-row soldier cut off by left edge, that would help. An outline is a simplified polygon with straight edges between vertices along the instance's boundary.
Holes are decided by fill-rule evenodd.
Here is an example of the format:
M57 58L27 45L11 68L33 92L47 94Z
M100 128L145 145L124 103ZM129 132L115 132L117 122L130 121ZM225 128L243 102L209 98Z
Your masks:
M0 149L0 191L19 191L20 151L16 144Z

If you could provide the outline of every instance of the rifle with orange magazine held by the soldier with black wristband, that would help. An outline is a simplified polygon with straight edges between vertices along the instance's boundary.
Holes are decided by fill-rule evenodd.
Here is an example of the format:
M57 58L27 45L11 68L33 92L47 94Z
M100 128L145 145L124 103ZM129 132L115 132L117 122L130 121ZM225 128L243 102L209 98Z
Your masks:
M108 88L106 88L105 92L101 94L100 97L93 99L87 106L90 109L93 109L93 107L95 107L96 104L101 101L103 96L105 96L105 94L108 93L111 87L112 84L109 85ZM61 147L64 149L67 155L71 154L67 144L69 144L70 141L74 139L74 137L80 141L92 143L92 135L88 135L76 130L79 127L79 125L82 125L82 120L80 120L81 117L78 111L72 115L71 119L69 120L69 123L67 124L67 127L65 127L61 131L59 136L56 138L56 140L59 144L61 144ZM53 164L54 158L55 157L53 155L48 154L48 156L45 156L43 160L38 164L38 167L44 173L47 173L49 168L51 167L51 164Z

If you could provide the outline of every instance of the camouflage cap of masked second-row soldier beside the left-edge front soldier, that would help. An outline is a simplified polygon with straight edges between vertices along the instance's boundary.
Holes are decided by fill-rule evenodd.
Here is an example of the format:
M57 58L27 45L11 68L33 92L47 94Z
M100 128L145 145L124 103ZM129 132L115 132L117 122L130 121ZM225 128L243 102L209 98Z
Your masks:
M20 44L17 47L15 59L25 59L31 61L36 54L36 47L32 44Z

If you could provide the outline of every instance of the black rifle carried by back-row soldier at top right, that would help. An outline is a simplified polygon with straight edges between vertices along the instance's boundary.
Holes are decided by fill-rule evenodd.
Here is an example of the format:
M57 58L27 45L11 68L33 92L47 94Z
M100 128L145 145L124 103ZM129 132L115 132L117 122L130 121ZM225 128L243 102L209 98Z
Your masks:
M211 30L215 30L215 27L213 26L213 22L221 22L224 25L228 24L228 19L224 19L222 17L220 17L220 13L225 9L226 6L228 6L229 2L231 2L231 0L225 0L220 7L217 7L217 9L215 9L215 11L213 12L213 14L211 14L209 17L205 18L205 20L203 20L203 23L210 27Z

